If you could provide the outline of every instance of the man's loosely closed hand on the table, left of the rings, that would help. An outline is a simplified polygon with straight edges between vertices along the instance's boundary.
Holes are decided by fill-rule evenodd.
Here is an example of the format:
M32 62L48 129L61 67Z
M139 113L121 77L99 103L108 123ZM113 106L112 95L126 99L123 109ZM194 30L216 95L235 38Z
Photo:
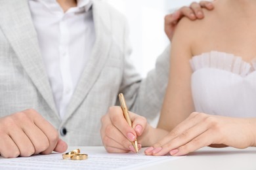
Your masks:
M0 118L0 154L4 158L64 152L58 131L33 109Z

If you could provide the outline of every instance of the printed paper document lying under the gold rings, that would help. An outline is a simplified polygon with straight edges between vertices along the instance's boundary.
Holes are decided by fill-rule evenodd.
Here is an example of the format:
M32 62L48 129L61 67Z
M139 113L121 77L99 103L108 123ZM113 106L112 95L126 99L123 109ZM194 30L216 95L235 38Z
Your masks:
M81 150L88 154L87 160L63 160L62 154L36 155L27 158L0 159L0 169L134 169L176 160L182 157L145 156L141 154L110 154L106 151L93 152Z

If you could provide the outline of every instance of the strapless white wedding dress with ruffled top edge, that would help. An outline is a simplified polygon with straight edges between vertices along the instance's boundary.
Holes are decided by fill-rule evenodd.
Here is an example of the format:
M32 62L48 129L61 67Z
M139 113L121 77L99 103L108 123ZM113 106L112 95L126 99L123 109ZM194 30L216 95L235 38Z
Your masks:
M190 64L197 112L256 117L256 61L213 51L194 56Z

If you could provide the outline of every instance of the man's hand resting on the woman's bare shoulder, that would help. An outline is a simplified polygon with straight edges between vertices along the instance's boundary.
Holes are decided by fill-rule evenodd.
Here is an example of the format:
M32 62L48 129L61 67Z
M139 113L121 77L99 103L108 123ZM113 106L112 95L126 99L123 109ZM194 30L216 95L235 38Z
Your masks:
M190 20L202 19L202 8L213 10L213 4L209 1L200 1L200 3L192 3L189 7L182 7L173 14L165 16L165 33L169 40L173 38L175 27L182 17L186 16Z

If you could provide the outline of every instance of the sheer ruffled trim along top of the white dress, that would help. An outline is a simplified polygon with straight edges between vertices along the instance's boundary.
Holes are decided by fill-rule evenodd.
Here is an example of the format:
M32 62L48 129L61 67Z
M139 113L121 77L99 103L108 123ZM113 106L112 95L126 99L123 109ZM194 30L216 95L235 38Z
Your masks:
M211 51L194 56L190 59L190 65L193 71L203 68L215 68L246 76L256 70L256 59L253 59L251 63L247 63L241 57L234 56L234 54Z

